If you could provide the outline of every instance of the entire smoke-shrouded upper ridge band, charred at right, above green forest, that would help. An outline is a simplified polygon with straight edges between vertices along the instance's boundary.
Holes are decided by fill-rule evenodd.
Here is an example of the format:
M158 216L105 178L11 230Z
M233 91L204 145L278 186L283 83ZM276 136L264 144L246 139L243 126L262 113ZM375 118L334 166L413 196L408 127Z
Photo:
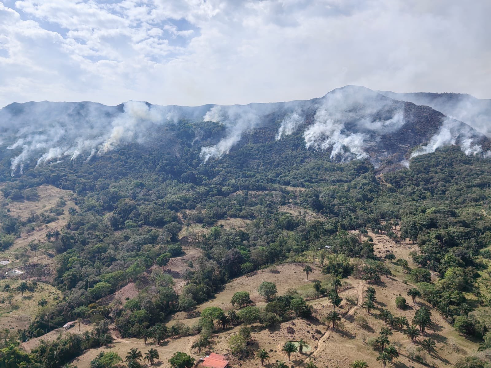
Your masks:
M246 131L267 128L273 131L272 144L301 137L305 149L326 152L326 159L368 158L378 165L385 159L403 162L445 145L459 145L467 155L489 155L484 148L488 139L478 132L487 132L481 126L489 115L483 114L482 109L466 113L480 117L473 129L431 107L356 86L309 101L273 104L187 107L135 101L118 106L31 102L0 110L0 152L10 159L11 174L22 174L26 165L90 160L129 143L146 144L155 137L156 128L185 120L194 129L192 142L200 147L202 162L228 154ZM220 124L223 134L202 141L197 128L202 121Z

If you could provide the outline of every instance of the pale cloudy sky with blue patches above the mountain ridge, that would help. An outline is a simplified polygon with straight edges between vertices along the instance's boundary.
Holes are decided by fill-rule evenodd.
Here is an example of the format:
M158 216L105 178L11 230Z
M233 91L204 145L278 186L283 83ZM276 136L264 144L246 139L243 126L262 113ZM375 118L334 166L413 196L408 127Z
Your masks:
M489 0L0 0L0 107L491 98Z

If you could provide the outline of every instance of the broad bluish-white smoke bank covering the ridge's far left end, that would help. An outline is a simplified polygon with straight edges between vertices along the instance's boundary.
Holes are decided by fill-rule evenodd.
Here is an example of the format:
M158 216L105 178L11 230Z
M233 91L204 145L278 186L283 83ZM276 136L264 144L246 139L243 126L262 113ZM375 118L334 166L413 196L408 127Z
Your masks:
M62 159L90 159L128 142L142 142L150 127L166 122L168 115L164 106L135 101L125 103L123 112L91 103L56 106L39 103L29 106L26 113L2 110L4 135L17 137L6 149L20 150L11 159L12 175L22 174L25 164L33 160L38 166Z

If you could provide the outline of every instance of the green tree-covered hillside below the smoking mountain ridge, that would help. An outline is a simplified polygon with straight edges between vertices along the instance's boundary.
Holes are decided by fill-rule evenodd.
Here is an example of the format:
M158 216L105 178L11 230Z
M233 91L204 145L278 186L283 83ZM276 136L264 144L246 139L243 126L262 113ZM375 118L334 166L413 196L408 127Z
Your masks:
M413 115L439 114L427 107L406 108ZM396 264L402 267L401 284L412 286L411 294L403 296L428 304L414 304L418 312L412 326L400 327L411 344L422 346L419 352L428 350L425 364L484 367L486 355L464 355L477 354L478 344L485 351L491 348L491 161L454 145L413 157L408 168L398 165L421 144L421 135L428 141L438 131L438 126L426 129L421 119L405 128L410 132L404 142L385 136L393 143L383 143L382 137L377 147L385 147L387 154L375 166L370 155L343 162L330 159L325 150L306 149L301 131L275 139L278 117L273 115L271 124L244 131L228 154L207 163L202 148L226 136L219 122L180 120L153 130L150 143L135 141L89 160L26 164L28 170L13 176L10 151L2 151L0 258L10 263L0 266L1 277L13 269L24 273L0 282L1 305L8 311L0 318L15 311L12 295L22 293L17 303L31 294L43 297L36 299L25 325L2 332L0 368L60 367L84 351L127 338L160 346L170 338L193 336L201 354L213 348L217 331L236 325L239 330L241 323L230 352L241 364L255 364L255 354L262 352L254 339L262 331L294 318L335 330L344 313L335 310L342 280L359 280L363 298L367 290L388 282ZM401 145L404 150L394 148ZM51 202L41 202L46 185L55 187L58 196ZM396 247L410 242L415 248L406 258L396 257L394 249L376 253L377 235ZM282 296L271 282L262 285L258 292L265 305L248 306L253 302L249 294L234 295L237 313L200 308L230 281L283 263L301 263L307 281L315 269L319 283L308 286L307 294L288 288ZM373 304L374 295L363 307L358 303L369 315L376 308L383 312L382 305ZM315 310L311 300L319 298L332 301L334 314ZM396 295L392 298L390 303L405 308ZM192 325L169 323L183 312L199 318ZM440 351L443 358L435 363L436 315L475 347L466 348L461 361L446 361ZM78 321L73 334L50 335L69 321ZM84 332L75 333L81 322ZM394 347L390 335L386 332L387 342L374 345L373 354L382 357L384 366L395 364L399 355L386 350ZM27 347L29 341L36 343ZM118 363L115 354L101 354L90 367L143 364L137 356ZM421 364L421 354L408 350L404 359Z

